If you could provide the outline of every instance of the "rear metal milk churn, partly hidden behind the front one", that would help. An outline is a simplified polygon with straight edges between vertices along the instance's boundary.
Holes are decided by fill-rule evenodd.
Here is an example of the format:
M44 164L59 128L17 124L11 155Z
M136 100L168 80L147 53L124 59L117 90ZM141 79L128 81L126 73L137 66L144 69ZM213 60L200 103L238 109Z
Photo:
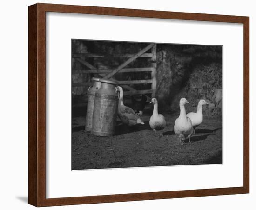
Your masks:
M88 103L87 103L87 112L86 112L86 121L85 121L85 130L90 131L93 125L93 114L94 114L94 99L95 93L101 87L101 82L99 78L92 78L93 86L89 87L87 90Z

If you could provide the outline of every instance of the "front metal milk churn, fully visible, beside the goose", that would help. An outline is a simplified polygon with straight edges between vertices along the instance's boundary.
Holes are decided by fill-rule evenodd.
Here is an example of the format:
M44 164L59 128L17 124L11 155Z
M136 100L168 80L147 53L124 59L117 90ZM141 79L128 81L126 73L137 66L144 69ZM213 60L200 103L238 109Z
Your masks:
M95 94L93 126L91 133L97 136L115 134L118 107L117 83L100 79L101 88Z

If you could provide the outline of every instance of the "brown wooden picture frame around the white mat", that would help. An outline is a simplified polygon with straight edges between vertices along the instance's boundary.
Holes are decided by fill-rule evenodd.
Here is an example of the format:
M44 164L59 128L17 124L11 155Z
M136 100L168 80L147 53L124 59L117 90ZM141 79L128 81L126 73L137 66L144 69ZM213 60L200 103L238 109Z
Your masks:
M115 15L243 24L243 187L162 191L118 195L46 198L46 12ZM93 204L151 199L249 193L249 17L162 12L94 6L34 4L29 6L29 156L28 203L34 206Z

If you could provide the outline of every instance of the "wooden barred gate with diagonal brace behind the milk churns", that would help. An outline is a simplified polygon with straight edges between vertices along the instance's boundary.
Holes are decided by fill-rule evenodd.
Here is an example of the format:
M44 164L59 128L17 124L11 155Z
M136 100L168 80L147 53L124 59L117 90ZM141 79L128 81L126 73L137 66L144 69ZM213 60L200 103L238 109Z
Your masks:
M151 49L151 53L146 53ZM86 59L88 57L105 57L107 55L104 54L94 54L94 53L74 53L73 58L88 67L89 70L73 70L73 74L75 73L84 73L84 74L94 74L95 77L100 77L103 79L109 79L112 81L116 81L123 88L128 89L128 91L124 91L124 95L140 95L140 94L151 94L152 97L155 97L156 92L156 44L152 43L143 48L141 51L135 54L117 54L112 55L112 57L127 57L124 63L116 67L115 69L97 69L92 64L89 64ZM151 67L144 68L125 68L128 64L133 62L138 57L151 57ZM145 72L151 71L151 79L142 79L142 80L124 80L117 81L112 78L118 72ZM145 90L137 90L129 85L131 84L146 84L151 83L151 89ZM73 83L73 87L78 86L88 86L88 83Z

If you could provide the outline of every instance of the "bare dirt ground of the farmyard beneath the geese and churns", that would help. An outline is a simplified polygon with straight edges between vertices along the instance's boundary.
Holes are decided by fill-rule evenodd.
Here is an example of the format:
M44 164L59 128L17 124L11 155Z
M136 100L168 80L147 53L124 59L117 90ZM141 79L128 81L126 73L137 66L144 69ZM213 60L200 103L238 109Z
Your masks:
M191 144L182 145L173 131L178 114L164 116L163 137L154 136L150 114L141 117L145 125L127 128L118 122L113 137L89 134L84 130L85 117L73 118L72 169L222 163L222 118L204 117Z

